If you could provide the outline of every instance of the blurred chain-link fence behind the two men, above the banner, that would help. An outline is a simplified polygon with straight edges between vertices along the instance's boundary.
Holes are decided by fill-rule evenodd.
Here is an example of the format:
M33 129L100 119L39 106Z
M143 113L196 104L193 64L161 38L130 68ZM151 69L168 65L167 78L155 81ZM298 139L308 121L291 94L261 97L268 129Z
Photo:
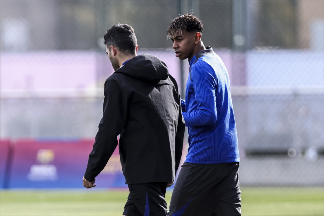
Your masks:
M1 0L0 139L95 136L113 73L103 35L128 23L184 94L166 29L191 12L231 79L242 185L324 186L324 1Z

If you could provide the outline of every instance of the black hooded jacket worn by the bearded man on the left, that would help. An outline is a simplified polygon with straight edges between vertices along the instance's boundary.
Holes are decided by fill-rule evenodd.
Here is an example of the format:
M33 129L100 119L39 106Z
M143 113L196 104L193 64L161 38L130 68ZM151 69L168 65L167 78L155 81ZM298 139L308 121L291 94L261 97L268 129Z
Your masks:
M119 138L126 184L173 182L182 154L185 124L175 79L157 57L130 59L105 82L103 117L85 179L103 170Z

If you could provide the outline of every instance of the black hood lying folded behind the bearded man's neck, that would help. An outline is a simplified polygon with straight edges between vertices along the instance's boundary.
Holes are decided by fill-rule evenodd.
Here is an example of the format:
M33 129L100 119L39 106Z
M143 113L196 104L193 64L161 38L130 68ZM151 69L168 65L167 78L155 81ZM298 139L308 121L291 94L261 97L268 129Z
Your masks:
M159 82L168 78L168 67L156 56L143 54L130 59L115 73L125 73L145 82Z

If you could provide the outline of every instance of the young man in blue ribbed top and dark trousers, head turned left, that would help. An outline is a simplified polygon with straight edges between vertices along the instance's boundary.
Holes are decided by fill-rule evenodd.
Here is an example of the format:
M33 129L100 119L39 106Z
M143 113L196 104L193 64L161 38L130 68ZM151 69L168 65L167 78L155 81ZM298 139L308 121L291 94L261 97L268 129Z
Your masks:
M168 215L241 215L239 152L229 76L221 58L201 41L192 14L175 18L168 37L176 57L190 64L182 115L189 149Z

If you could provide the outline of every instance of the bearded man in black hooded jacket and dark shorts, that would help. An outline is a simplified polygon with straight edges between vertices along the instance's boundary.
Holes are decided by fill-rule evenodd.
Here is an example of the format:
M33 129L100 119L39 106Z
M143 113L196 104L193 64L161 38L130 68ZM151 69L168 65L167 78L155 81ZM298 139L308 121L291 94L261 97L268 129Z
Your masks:
M167 215L164 196L180 163L185 129L177 83L157 57L136 55L131 26L113 26L104 43L115 72L105 82L103 117L83 185L96 186L120 134L121 167L130 190L123 215Z

